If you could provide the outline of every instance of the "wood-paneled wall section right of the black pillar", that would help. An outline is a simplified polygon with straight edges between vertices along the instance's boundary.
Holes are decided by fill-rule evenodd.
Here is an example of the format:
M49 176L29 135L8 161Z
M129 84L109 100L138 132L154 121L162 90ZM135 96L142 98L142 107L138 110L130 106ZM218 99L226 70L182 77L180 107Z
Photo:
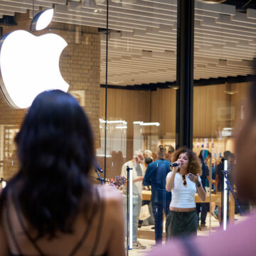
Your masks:
M224 127L239 122L250 82L194 87L193 137L219 138Z

